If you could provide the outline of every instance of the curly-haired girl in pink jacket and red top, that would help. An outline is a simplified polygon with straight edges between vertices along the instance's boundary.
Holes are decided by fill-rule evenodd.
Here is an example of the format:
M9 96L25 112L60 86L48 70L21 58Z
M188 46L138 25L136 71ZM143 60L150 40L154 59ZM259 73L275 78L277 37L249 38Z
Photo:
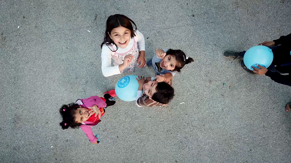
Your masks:
M78 126L85 132L92 144L97 144L97 138L93 135L92 126L97 125L105 113L105 107L115 104L115 99L104 93L103 97L91 96L86 99L78 99L76 103L63 105L59 110L63 121L60 123L62 129Z

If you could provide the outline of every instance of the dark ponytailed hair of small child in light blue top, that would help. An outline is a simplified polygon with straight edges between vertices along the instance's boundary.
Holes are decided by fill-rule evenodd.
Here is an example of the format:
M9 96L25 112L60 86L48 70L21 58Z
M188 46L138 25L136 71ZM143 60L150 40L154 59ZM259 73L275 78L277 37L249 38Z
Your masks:
M166 53L166 56L170 55L170 56L174 56L176 58L176 61L178 62L179 65L175 66L175 69L173 71L178 71L180 72L181 69L188 63L193 62L194 60L192 58L188 58L186 59L186 55L182 50L172 50L169 49Z

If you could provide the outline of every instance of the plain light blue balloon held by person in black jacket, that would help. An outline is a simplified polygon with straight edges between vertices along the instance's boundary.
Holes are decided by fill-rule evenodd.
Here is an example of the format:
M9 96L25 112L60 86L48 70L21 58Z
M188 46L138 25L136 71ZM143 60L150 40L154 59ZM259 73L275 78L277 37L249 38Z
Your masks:
M272 64L273 58L273 52L269 47L257 45L246 51L243 62L248 69L254 70L252 66L259 69L257 64L268 68Z

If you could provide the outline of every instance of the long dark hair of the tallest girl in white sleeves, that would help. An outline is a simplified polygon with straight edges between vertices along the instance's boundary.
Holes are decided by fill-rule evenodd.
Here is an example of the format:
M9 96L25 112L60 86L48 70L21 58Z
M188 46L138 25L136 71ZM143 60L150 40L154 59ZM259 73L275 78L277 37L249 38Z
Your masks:
M135 29L133 29L131 23L135 26ZM130 37L131 38L135 37L134 32L136 31L136 25L131 19L129 19L126 16L121 15L121 14L110 15L106 21L105 36L104 36L104 41L101 44L101 48L103 45L109 46L110 44L113 44L116 46L116 50L117 50L118 47L114 43L114 41L110 38L109 34L113 30L113 28L117 28L119 26L122 26L122 27L129 29L130 30ZM113 51L113 50L111 50L111 51ZM115 51L113 51L113 52L115 52Z

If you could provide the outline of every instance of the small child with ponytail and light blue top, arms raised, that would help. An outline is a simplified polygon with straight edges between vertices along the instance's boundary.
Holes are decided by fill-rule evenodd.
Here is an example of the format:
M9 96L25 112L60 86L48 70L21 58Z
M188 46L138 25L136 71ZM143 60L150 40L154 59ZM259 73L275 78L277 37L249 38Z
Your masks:
M186 57L182 50L162 50L158 49L152 58L152 61L147 63L148 66L154 68L156 72L157 82L170 82L176 72L188 63L193 62L192 58Z

